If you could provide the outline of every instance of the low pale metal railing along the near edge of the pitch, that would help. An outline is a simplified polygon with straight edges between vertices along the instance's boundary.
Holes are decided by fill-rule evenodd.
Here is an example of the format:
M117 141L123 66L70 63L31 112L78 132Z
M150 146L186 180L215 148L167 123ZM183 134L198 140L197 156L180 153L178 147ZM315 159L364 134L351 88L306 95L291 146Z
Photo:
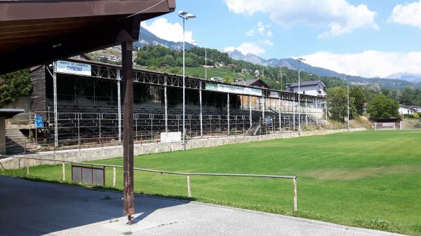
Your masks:
M62 163L62 181L66 180L66 172L65 172L65 164L76 164L76 165L91 165L97 167L112 167L113 168L113 179L112 179L112 187L116 187L116 169L123 169L121 165L104 165L104 164L95 164L95 163L86 163L86 162L71 162L66 160L51 160L51 159L44 159L44 158L27 158L27 157L9 157L15 158L20 161L26 160L26 174L29 175L29 160L41 160L46 162L61 162ZM19 166L20 167L20 166ZM190 181L190 176L227 176L227 177L247 177L247 178L270 178L270 179L292 179L293 180L293 200L294 200L294 212L298 211L298 197L297 197L297 176L286 176L286 175L267 175L267 174L221 174L221 173L189 173L189 172L169 172L164 170L156 170L156 169L144 169L144 168L133 168L135 171L140 172L153 172L159 174L174 174L174 175L182 175L187 176L187 196L192 197L192 184Z

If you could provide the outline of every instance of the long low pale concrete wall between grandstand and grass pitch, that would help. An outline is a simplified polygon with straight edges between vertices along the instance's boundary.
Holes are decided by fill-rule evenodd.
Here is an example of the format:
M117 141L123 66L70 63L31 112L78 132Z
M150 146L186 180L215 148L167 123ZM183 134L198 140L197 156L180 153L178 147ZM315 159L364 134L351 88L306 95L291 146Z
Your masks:
M351 129L352 132L356 131L363 131L366 130L365 128L356 128ZM338 132L347 132L346 129L344 130L316 130L316 131L308 131L302 132L301 136L313 136L313 135L323 135L323 134L334 134ZM261 135L261 136L240 136L240 137L224 137L224 138L212 138L212 139L196 139L196 140L189 140L187 141L187 149L194 149L194 148L206 148L211 146L222 146L227 144L242 144L247 143L250 141L265 141L265 140L272 140L272 139L290 139L298 137L297 132L288 132L282 134L268 134L268 135ZM150 154L150 153L163 153L163 152L170 152L170 151L181 151L182 150L182 142L175 142L175 143L166 143L166 144L143 144L143 145L135 145L134 153L135 155L143 155L143 154ZM88 149L81 149L78 150L67 150L67 151L56 151L55 153L52 151L42 152L42 153L35 153L30 155L25 155L22 157L27 158L43 158L48 160L66 160L66 161L74 161L74 162L83 162L83 161L90 161L90 160L102 160L108 158L119 158L123 156L123 147L122 146L112 146L112 147L105 147L105 148L88 148ZM18 156L15 156L18 157ZM51 164L59 164L59 162L48 162L44 160L29 160L29 165L51 165ZM0 160L0 168L1 169L17 169L26 166L26 161L21 160L19 161L16 158L5 158Z

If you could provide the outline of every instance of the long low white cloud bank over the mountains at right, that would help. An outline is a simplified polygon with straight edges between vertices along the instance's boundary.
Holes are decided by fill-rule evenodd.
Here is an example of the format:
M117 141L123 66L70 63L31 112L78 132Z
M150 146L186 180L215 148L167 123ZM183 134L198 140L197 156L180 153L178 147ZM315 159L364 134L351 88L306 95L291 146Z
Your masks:
M384 78L399 72L421 74L421 51L401 53L366 50L353 54L318 52L302 57L314 67L353 76Z

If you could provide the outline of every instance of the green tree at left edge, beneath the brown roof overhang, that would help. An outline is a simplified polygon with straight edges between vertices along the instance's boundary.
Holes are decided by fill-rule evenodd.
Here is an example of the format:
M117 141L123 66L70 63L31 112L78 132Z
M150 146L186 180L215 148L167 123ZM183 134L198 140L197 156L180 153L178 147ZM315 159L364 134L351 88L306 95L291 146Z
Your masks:
M0 76L0 107L5 106L20 96L32 92L32 81L29 70L15 71Z

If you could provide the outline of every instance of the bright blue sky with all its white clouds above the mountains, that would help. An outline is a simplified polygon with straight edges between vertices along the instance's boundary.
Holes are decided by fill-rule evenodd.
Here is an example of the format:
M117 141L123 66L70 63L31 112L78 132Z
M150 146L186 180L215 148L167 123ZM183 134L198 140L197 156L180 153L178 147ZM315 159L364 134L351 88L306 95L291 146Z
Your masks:
M199 46L303 56L314 66L367 77L421 74L421 0L178 0L180 10L197 16L186 30ZM181 22L172 13L144 26L180 41Z

